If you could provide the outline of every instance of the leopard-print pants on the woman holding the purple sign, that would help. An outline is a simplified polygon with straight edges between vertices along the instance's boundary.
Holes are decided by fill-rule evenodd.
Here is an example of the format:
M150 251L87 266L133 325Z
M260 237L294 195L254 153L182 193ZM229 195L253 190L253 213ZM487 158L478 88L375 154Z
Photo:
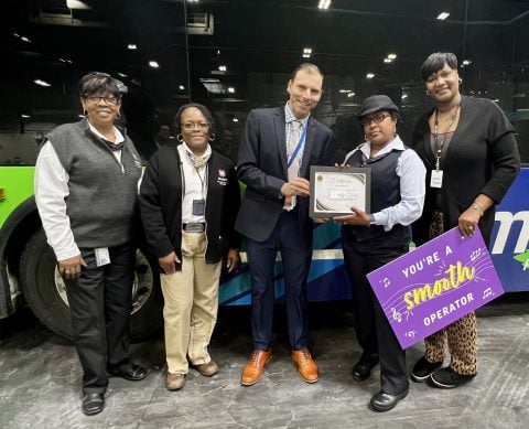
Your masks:
M443 234L443 213L433 212L430 223L429 238ZM476 314L464 315L454 323L443 328L424 339L424 357L429 362L441 362L444 358L445 344L452 357L450 366L458 374L471 375L477 372L477 331Z

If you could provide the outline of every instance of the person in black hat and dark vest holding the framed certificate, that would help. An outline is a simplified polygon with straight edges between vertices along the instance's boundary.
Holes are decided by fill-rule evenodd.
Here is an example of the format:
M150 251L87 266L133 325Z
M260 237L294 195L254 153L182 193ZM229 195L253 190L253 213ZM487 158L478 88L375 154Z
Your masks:
M358 118L366 141L347 153L342 165L371 170L371 213L350 207L341 222L344 262L353 287L353 311L363 354L353 377L363 382L380 363L375 411L388 411L408 394L406 353L395 336L366 275L408 251L410 225L422 213L425 169L397 135L399 108L386 95L366 98Z

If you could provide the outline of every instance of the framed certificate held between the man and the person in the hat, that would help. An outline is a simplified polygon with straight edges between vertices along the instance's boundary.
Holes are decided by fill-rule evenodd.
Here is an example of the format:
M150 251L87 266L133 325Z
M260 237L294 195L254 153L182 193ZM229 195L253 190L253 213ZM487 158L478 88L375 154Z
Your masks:
M350 214L350 207L370 211L371 169L311 167L311 217Z

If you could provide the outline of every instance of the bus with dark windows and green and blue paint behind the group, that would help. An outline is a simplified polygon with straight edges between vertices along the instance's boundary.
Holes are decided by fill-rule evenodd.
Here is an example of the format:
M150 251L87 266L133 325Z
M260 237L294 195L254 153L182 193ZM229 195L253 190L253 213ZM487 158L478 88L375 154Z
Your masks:
M290 73L320 66L324 95L315 118L331 127L336 161L363 139L361 99L387 94L411 138L430 106L420 65L432 52L460 58L462 89L494 100L517 129L529 162L529 6L466 0L446 11L410 0L8 0L1 14L0 319L29 305L50 329L71 336L64 283L46 244L33 197L37 146L46 132L79 120L77 82L100 71L118 78L122 126L147 160L174 141L173 116L203 103L217 125L216 149L237 158L246 116L287 101ZM449 8L450 7L450 8ZM441 19L441 12L447 17ZM444 17L444 15L443 15ZM164 130L164 135L160 130ZM168 132L169 130L169 132ZM507 291L529 290L529 169L522 168L498 206L490 251ZM242 255L244 256L244 255ZM131 335L159 329L158 264L140 245ZM276 291L283 293L281 261ZM339 228L315 226L311 300L350 299ZM222 304L250 303L248 266L223 276Z

